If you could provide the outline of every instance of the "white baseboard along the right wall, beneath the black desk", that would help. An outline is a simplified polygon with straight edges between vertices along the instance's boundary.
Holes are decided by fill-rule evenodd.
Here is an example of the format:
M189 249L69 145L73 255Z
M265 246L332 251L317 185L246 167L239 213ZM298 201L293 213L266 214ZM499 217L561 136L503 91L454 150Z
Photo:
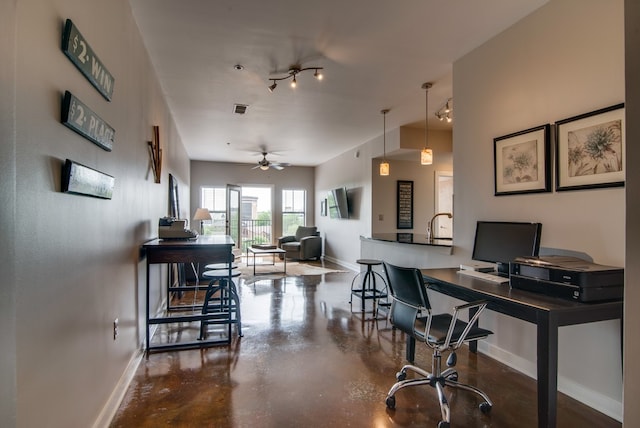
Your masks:
M486 341L478 343L478 350L532 379L537 378L537 367L535 363L529 360L514 355L497 346L490 345ZM592 389L585 388L583 385L563 376L558 376L558 391L618 422L622 422L622 402L620 401L616 401Z

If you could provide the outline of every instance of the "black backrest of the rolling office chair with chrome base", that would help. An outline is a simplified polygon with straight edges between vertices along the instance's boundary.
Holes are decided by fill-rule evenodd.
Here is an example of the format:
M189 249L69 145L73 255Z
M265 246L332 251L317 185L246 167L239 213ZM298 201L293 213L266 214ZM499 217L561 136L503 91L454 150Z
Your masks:
M393 296L389 319L407 334L414 334L416 319L421 309L431 309L422 272L415 268L382 263L387 275L387 285Z

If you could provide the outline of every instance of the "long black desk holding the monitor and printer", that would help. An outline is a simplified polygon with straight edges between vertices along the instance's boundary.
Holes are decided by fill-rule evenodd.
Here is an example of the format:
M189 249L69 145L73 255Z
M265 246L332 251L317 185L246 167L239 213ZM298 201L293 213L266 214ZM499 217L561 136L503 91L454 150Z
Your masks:
M459 275L457 270L448 268L421 271L429 290L467 302L485 300L488 302L487 309L537 325L538 426L555 427L558 327L622 319L623 302L580 303L562 300Z

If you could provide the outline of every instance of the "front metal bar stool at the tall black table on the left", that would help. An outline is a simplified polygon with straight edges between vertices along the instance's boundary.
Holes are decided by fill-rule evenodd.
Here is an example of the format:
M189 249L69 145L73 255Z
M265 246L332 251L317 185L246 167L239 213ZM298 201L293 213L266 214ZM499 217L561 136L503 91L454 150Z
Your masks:
M231 266L229 276L228 265L207 265L215 269L206 270L202 276L209 280L202 304L202 315L207 315L200 322L200 340L207 336L207 326L227 325L228 342L231 342L231 326L236 325L238 336L242 337L242 318L240 315L240 297L233 278L240 276L237 266Z

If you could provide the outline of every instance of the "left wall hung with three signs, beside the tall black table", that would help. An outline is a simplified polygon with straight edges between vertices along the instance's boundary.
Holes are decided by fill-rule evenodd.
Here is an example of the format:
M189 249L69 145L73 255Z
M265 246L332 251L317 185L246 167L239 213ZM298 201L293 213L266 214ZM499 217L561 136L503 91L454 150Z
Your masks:
M2 216L3 247L12 254L2 257L9 284L0 299L0 425L92 426L108 420L110 397L144 339L145 269L138 249L168 212L169 172L180 180L188 209L189 161L127 1L18 0L3 2L0 16L0 182L3 202L13 200L15 210L3 207ZM114 76L111 102L62 53L66 18ZM60 124L65 90L115 128L112 152ZM153 125L160 126L164 150L160 184L149 171ZM113 199L62 193L66 158L113 175ZM152 274L158 281L161 271ZM120 335L114 341L115 318ZM14 334L5 333L14 327Z

